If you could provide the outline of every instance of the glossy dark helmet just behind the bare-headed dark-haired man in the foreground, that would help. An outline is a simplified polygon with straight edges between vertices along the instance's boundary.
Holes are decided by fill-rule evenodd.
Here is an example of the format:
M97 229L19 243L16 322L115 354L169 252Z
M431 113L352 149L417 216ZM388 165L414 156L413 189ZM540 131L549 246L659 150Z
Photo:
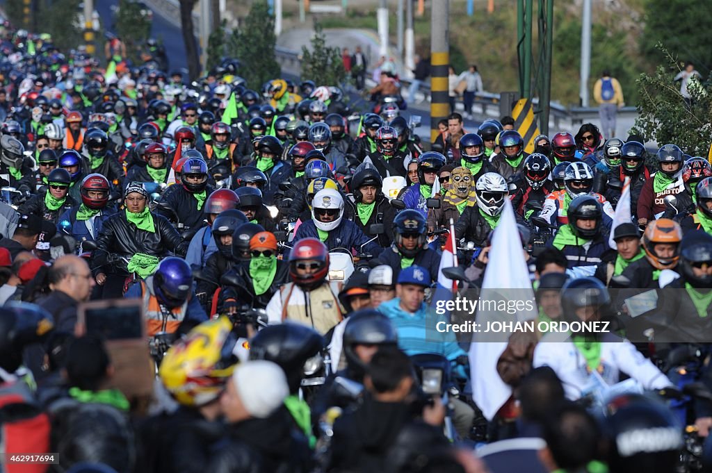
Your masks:
M363 369L365 363L354 352L355 345L397 346L398 331L392 321L376 309L353 312L343 335L344 355L350 368Z

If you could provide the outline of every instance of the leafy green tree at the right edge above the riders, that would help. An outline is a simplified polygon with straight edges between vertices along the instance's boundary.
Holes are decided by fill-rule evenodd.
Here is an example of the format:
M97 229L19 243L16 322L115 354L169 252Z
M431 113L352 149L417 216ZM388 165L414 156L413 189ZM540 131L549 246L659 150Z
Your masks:
M712 140L712 83L694 81L689 85L692 100L687 104L680 95L679 83L673 80L681 63L662 46L660 51L667 64L637 80L639 116L632 132L660 145L677 144L691 156L707 156Z

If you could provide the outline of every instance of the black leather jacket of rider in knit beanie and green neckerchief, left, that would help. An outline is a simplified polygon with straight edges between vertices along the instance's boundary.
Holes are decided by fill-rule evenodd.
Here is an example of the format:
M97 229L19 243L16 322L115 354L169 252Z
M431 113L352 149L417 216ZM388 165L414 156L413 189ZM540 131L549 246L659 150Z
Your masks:
M155 233L139 230L126 220L126 212L112 215L104 222L96 239L97 249L91 258L94 275L100 272L128 274L127 263L119 257L130 259L136 253L164 257L168 252L184 256L188 242L183 241L165 217L152 213Z

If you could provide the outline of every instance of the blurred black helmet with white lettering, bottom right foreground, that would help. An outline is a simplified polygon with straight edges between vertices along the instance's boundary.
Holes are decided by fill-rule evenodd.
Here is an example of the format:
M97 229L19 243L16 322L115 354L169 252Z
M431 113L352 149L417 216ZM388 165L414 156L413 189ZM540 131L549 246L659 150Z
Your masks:
M668 473L679 465L682 426L659 400L639 394L610 400L603 430L611 472Z

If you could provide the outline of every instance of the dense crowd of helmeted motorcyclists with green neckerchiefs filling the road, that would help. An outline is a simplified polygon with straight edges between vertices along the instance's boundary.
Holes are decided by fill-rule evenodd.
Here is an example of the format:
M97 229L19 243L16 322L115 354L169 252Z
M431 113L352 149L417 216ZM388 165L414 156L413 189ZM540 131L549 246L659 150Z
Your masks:
M682 395L691 361L682 422L707 436L706 158L593 124L528 153L511 117L466 132L458 113L424 146L378 87L360 113L314 80L251 90L234 59L187 85L0 36L0 424L46 422L57 471L680 471L661 400L626 393L602 422L587 408L592 380ZM427 331L427 302L447 241L481 287L507 202L538 320L615 329L513 337L493 361L513 395L484 419L468 345ZM117 298L169 341L150 399L75 331L79 304ZM19 387L9 405L31 409L5 415Z

